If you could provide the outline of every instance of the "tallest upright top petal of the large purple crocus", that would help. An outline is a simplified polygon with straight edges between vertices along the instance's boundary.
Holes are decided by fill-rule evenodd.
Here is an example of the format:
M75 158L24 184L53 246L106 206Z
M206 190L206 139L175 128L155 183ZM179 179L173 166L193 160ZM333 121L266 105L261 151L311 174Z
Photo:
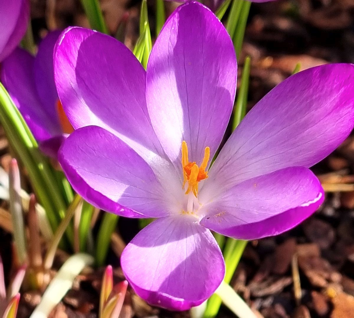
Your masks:
M236 56L221 22L199 2L170 16L147 66L147 104L154 130L172 162L181 166L181 145L190 161L211 157L230 118L236 88Z

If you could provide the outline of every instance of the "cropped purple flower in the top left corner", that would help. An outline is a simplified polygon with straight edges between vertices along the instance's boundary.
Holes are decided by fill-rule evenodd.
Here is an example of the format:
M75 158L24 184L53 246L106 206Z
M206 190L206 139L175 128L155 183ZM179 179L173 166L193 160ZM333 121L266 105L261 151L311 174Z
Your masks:
M29 0L0 0L0 62L17 47L29 20Z

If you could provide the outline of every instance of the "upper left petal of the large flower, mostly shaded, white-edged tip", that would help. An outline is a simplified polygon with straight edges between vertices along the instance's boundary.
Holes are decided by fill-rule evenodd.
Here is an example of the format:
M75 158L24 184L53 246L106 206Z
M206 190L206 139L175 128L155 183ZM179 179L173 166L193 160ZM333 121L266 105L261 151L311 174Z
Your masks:
M68 28L55 52L55 81L73 127L103 127L139 155L161 153L145 102L142 65L113 37Z

